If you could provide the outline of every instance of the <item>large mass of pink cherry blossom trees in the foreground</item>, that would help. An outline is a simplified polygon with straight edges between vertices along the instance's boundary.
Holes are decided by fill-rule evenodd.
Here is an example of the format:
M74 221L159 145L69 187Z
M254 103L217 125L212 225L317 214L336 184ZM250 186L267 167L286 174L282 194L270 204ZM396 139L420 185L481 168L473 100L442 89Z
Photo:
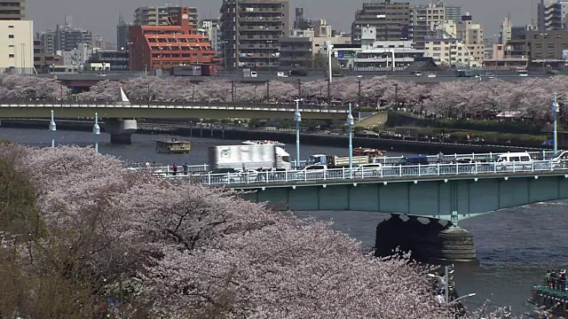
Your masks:
M75 284L86 295L65 299L77 300L68 306L77 314L105 300L97 311L117 317L451 316L434 300L425 268L367 255L326 222L130 172L91 149L3 145L0 161L28 175L45 227L42 237L12 243L19 271ZM19 298L35 300L25 293L35 286L27 287Z

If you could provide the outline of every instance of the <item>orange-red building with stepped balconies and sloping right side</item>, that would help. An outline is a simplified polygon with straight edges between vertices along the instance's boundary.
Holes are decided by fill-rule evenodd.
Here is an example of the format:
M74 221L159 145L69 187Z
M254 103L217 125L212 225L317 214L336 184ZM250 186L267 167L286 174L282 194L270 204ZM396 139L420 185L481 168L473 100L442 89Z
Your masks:
M169 12L169 25L130 26L131 71L221 63L209 40L194 32L189 8L179 9L180 12Z

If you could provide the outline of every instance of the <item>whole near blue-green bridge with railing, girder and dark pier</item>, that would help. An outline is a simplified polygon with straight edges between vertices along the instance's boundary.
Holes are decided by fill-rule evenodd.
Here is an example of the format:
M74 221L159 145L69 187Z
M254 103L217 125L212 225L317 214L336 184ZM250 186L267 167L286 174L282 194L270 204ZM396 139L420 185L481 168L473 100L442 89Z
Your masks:
M176 177L247 191L246 198L278 210L390 213L393 217L377 227L378 254L390 254L400 245L420 260L476 261L473 238L458 226L459 221L568 198L568 162L550 159L550 152L532 155L537 159L518 164L488 159L472 164L386 163L374 171L347 168ZM456 155L460 157L471 158L471 154Z

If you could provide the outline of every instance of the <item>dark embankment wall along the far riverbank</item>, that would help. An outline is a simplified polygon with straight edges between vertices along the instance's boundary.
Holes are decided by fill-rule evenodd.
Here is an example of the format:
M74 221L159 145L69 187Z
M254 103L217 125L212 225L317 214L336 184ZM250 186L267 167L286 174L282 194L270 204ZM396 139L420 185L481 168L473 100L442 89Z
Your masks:
M91 131L91 121L57 121L59 130ZM45 120L2 120L3 128L38 128L47 129ZM104 129L103 129L104 132ZM296 143L296 133L291 131L272 131L244 128L204 128L177 127L175 124L144 123L139 125L137 134L170 135L185 137L209 137L226 140L276 140L285 144ZM348 136L300 134L300 142L308 145L348 147ZM459 144L408 140L402 138L353 137L353 147L377 148L384 151L412 152L421 154L469 153L469 152L522 152L538 151L542 147L523 145Z

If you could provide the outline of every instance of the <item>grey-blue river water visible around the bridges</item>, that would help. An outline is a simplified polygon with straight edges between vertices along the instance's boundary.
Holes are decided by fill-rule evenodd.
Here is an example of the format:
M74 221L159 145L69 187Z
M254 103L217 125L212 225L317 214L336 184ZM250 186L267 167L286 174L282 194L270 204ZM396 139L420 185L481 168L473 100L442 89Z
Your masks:
M0 138L9 138L20 144L47 146L51 144L47 129L0 128ZM154 152L155 136L134 135L130 145L110 144L110 136L99 137L99 151L131 162L155 161L163 165L207 161L207 148L216 144L238 144L208 138L190 138L192 151L188 155L168 155ZM88 132L57 131L57 144L92 145ZM357 145L354 145L357 146ZM295 145L287 151L296 158ZM314 153L347 155L347 145L341 148L305 145L302 158ZM389 155L400 155L389 152ZM458 292L476 292L466 306L476 308L485 300L492 306L511 306L515 314L525 313L531 306L525 300L531 287L540 284L548 268L568 268L568 201L520 206L492 214L485 214L460 223L474 238L479 266L457 267L455 271ZM375 245L375 227L387 214L368 212L301 212L300 217L314 216L319 220L335 222L335 230L359 239L362 245Z

